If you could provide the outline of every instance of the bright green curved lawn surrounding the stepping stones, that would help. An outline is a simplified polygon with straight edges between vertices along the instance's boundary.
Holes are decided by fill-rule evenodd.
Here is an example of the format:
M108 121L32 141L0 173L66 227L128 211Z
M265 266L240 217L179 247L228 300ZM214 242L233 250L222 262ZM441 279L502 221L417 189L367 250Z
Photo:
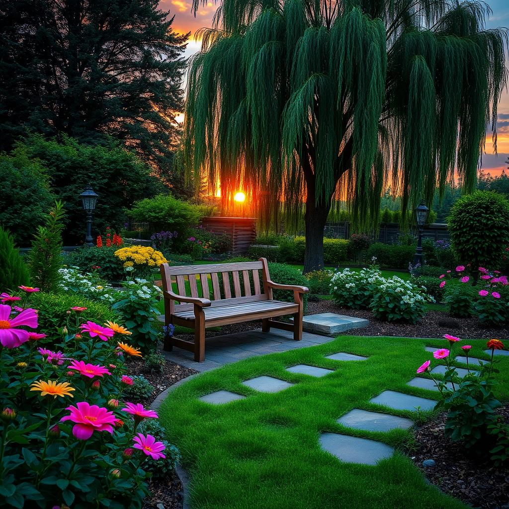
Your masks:
M486 342L469 341L472 355L486 357ZM425 345L444 340L341 336L331 343L254 357L204 373L169 394L159 409L168 439L181 450L191 477L194 509L464 509L428 485L402 452L411 431L370 433L344 428L336 419L353 408L376 409L368 400L385 389L437 399L435 392L409 387L416 368L431 357ZM458 348L458 347L456 347ZM370 358L360 362L325 359L338 351ZM323 378L292 374L305 363L336 370ZM509 399L509 358L500 360L496 387ZM240 382L272 375L296 385L275 394ZM197 398L227 389L248 398L214 406ZM389 411L414 419L431 413ZM377 466L342 463L319 447L321 432L340 432L386 442L397 453Z

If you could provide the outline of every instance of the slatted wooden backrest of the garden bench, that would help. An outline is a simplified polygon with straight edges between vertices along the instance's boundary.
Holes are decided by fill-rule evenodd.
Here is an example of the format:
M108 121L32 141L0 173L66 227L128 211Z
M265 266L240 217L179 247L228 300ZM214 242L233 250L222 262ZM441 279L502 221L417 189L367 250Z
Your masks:
M162 264L161 278L163 290L173 288L178 295L210 299L211 306L272 299L272 290L266 285L270 277L265 258L260 258L257 262L176 267ZM200 285L197 284L198 281ZM176 301L172 301L171 313L192 308L192 304L177 304Z

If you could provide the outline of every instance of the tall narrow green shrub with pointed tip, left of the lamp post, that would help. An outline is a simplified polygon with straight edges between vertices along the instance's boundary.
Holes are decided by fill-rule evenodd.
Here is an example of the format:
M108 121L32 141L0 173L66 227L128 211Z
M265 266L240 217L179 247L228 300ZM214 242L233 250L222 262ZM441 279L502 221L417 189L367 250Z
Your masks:
M44 218L44 226L38 228L27 255L32 284L44 291L55 290L60 280L64 216L63 203L55 202Z

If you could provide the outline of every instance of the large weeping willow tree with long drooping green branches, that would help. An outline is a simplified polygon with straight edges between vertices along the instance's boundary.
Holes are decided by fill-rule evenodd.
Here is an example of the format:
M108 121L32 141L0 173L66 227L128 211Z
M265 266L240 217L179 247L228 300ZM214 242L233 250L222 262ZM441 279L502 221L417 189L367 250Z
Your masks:
M486 30L489 14L475 1L223 0L189 66L190 171L224 201L242 188L265 221L292 225L305 204L304 271L323 267L334 201L369 229L388 185L402 217L455 168L472 190L507 78L507 30Z

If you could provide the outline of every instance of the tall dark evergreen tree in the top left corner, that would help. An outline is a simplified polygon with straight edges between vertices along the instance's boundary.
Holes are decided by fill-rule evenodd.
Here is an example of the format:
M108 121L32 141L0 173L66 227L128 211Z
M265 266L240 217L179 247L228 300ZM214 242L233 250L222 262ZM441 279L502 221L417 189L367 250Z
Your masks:
M26 130L105 135L172 175L186 35L158 0L0 0L0 150Z

